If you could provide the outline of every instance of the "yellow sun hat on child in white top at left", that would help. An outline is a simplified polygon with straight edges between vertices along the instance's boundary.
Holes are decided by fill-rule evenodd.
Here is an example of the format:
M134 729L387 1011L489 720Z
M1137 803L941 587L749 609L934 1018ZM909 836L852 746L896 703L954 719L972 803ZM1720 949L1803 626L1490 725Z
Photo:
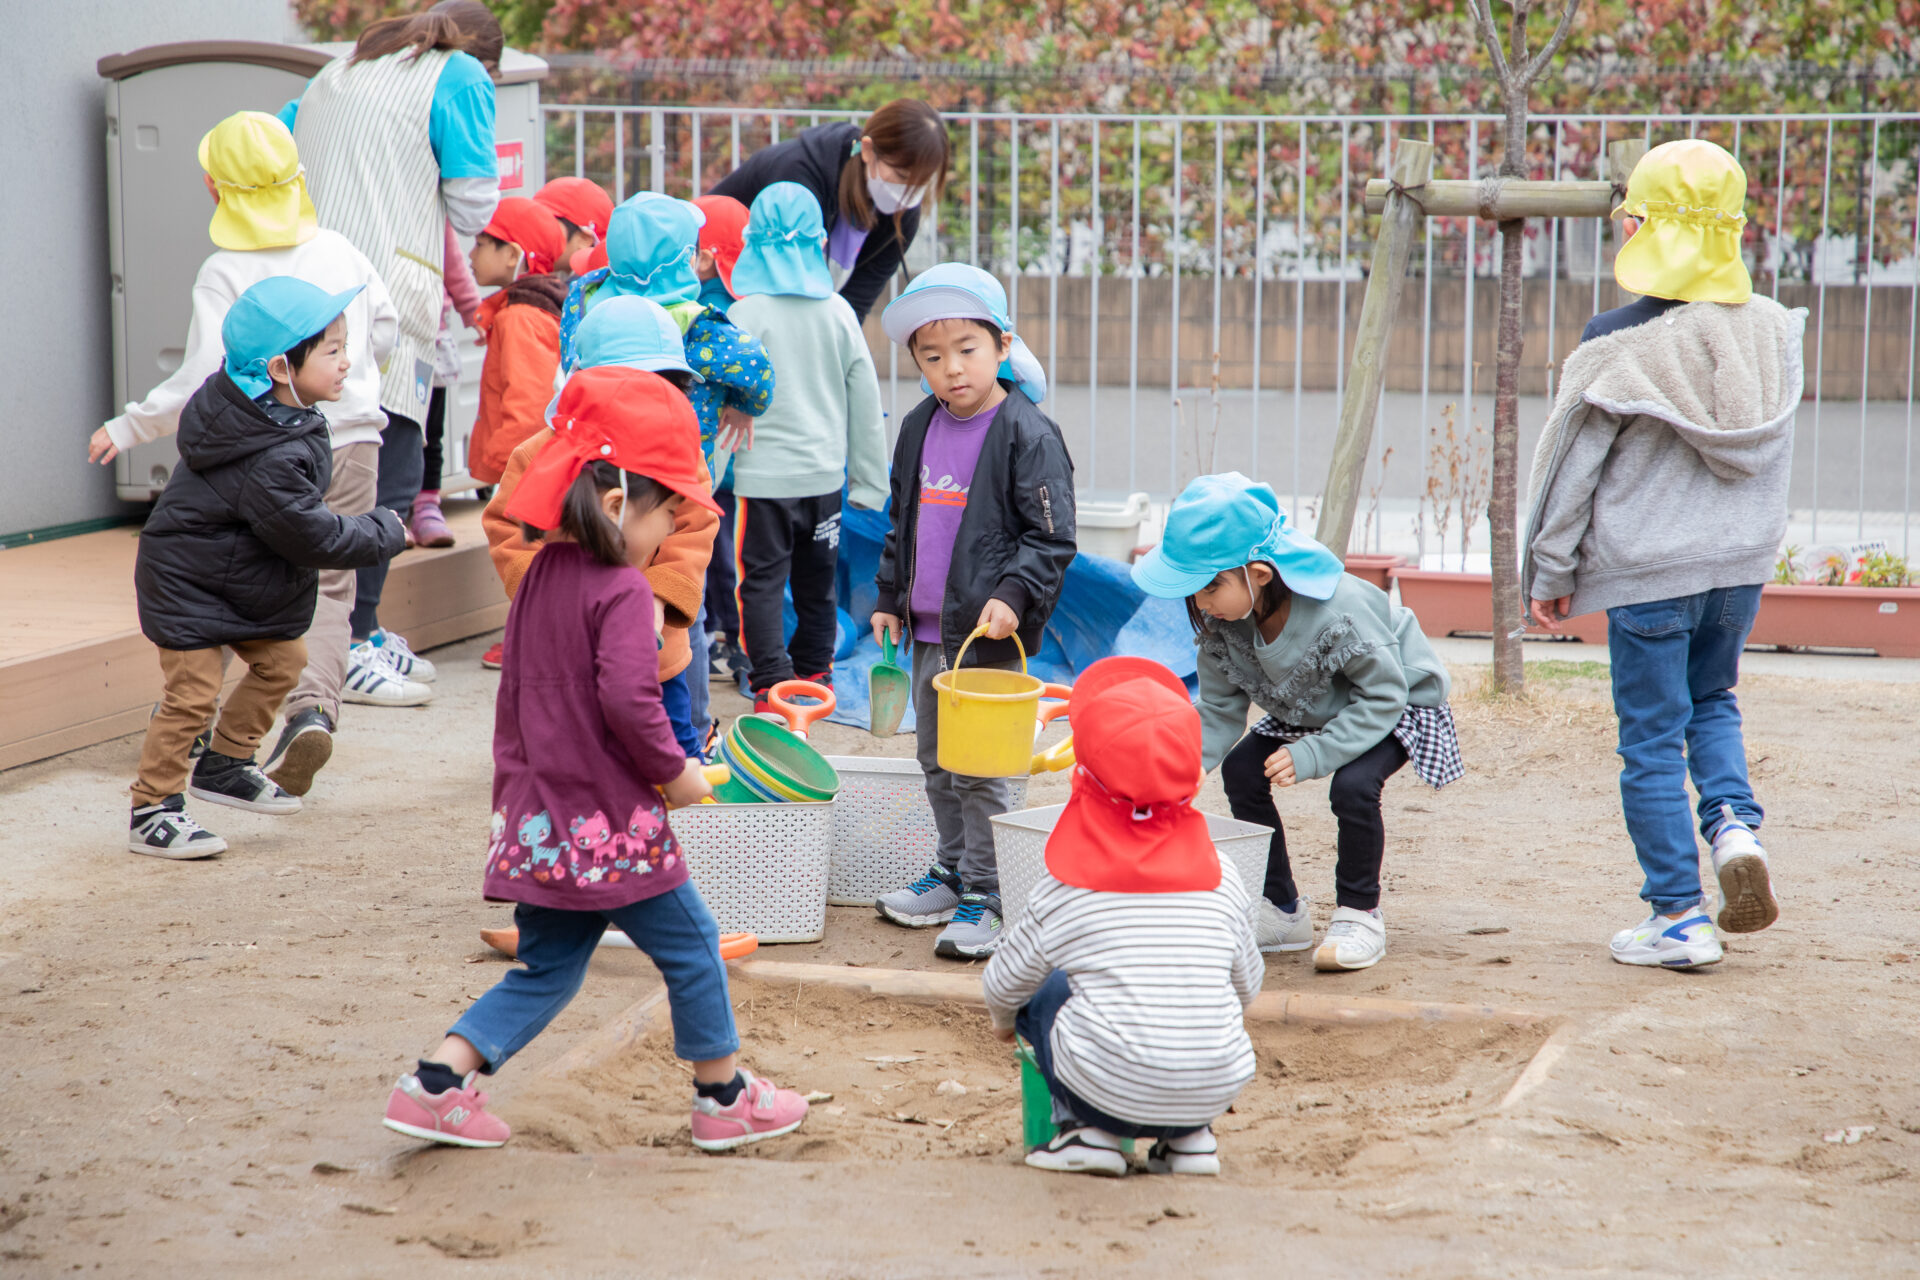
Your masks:
M300 148L273 115L223 119L200 140L200 167L221 194L207 234L223 249L276 249L319 234Z

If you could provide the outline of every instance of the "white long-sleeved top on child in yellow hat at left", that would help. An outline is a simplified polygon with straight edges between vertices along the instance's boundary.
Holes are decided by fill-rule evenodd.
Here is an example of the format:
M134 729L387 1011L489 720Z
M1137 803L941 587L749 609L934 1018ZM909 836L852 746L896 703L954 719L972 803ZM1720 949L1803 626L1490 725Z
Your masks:
M380 365L394 351L399 313L367 255L340 232L323 228L305 244L278 249L219 249L200 265L180 367L148 391L144 401L129 403L121 416L106 424L108 438L121 451L180 430L180 409L227 359L221 342L227 311L240 294L271 276L298 276L328 294L340 294L355 284L367 286L346 311L351 361L348 384L338 401L321 403L321 413L326 415L334 449L380 441L380 432L386 430L386 413L380 409Z

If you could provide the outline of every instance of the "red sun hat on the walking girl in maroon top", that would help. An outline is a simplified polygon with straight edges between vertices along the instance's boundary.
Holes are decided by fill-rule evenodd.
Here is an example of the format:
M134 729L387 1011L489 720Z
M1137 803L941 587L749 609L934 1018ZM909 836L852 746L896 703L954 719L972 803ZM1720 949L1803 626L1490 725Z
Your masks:
M660 374L624 365L576 368L553 409L553 439L540 447L507 514L536 530L561 526L561 505L588 462L659 480L720 514L701 480L701 424L693 405Z

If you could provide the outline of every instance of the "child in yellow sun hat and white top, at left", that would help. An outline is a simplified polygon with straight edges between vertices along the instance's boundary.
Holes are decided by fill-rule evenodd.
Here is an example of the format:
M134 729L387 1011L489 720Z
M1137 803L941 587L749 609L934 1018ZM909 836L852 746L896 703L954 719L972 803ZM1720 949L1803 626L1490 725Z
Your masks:
M213 219L207 236L215 253L200 265L194 301L186 320L186 355L165 382L148 391L94 432L86 455L109 462L123 449L171 436L180 426L180 411L200 386L221 368L221 324L228 309L252 286L273 276L294 276L328 294L357 290L342 313L348 326L351 363L338 401L321 405L334 453L326 505L342 516L372 510L374 474L380 462L380 365L394 349L399 313L372 263L340 232L323 230L300 163L300 150L286 125L263 111L238 111L215 125L200 140L200 167L205 171ZM290 729L301 727L307 741L286 770L280 737L269 760L286 791L305 794L313 770L332 750L332 729L340 723L340 689L348 674L348 614L353 610L353 570L321 572L321 603L307 635L307 670L286 699ZM403 691L394 677L392 687ZM315 737L315 733L319 737Z

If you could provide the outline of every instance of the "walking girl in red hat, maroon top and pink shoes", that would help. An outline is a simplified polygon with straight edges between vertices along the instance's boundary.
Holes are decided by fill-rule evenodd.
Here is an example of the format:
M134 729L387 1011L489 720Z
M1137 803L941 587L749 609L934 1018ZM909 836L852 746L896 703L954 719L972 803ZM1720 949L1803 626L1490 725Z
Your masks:
M682 503L712 507L687 397L634 368L582 368L509 514L545 547L507 616L493 723L486 896L518 904L518 958L386 1103L386 1126L497 1148L474 1075L499 1071L566 1007L612 923L647 952L693 1063L693 1144L726 1151L799 1128L806 1102L739 1067L720 931L687 881L666 804L708 794L660 708L655 606L639 566ZM662 804L664 798L664 804ZM609 835L609 831L612 835Z

